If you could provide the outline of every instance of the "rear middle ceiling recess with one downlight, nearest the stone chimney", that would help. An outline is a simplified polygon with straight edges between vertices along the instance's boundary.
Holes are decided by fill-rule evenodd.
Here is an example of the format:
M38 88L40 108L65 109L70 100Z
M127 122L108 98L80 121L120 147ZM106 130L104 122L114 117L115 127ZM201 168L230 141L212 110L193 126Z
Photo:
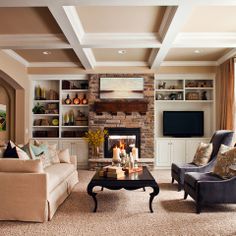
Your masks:
M97 61L147 61L150 56L151 49L95 48L93 49L93 53Z

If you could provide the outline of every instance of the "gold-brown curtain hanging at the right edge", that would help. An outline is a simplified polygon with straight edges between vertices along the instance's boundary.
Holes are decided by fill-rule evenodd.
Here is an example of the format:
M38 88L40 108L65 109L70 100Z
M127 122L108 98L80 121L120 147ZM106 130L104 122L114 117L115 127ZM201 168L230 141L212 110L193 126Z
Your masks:
M217 68L217 128L234 129L234 58Z

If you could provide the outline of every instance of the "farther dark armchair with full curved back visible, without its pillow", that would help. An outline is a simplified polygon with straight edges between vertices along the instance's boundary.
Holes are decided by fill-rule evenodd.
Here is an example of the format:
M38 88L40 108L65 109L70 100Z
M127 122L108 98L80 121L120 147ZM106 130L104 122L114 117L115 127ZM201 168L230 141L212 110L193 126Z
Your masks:
M210 172L212 170L214 163L216 161L220 145L221 144L230 145L232 142L233 134L234 132L231 130L218 130L214 133L210 141L213 144L213 151L211 154L211 158L210 161L204 166L196 166L193 163L186 163L182 165L172 163L171 165L172 183L174 183L174 180L178 182L178 191L180 191L183 188L185 173L187 172L205 173L205 172Z

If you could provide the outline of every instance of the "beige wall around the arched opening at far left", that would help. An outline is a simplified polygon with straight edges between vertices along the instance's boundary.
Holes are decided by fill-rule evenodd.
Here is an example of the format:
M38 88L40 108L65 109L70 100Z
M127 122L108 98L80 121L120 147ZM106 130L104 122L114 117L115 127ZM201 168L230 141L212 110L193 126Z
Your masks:
M16 130L15 141L28 140L29 129L29 79L27 69L22 64L0 51L0 76L16 89Z

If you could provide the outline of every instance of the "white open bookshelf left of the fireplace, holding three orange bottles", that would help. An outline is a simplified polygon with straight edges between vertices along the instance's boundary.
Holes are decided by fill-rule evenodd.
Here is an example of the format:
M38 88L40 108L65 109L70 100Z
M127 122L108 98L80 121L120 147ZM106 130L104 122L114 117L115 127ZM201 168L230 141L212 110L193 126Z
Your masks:
M88 130L88 79L37 76L32 81L32 138L84 137Z

